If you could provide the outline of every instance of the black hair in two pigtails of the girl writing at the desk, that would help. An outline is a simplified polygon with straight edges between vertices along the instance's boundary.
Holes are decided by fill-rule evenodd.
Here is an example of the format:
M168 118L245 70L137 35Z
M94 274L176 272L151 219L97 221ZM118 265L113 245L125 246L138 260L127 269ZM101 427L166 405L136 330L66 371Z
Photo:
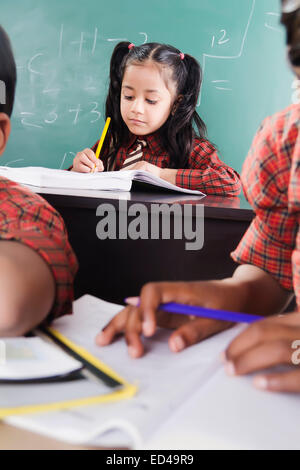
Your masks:
M129 130L120 112L121 86L125 69L131 64L141 64L151 60L158 65L171 68L171 78L176 85L176 95L180 95L179 99L175 100L176 110L171 112L159 133L164 148L170 155L170 166L185 168L196 135L193 123L200 139L204 139L206 135L206 126L196 112L202 81L201 67L196 59L188 54L185 54L182 59L180 51L169 45L148 43L130 49L129 45L129 42L117 44L110 62L106 117L110 116L112 122L109 130L110 139L106 139L103 149L103 160L105 162L109 156L113 157L118 148L129 139ZM109 147L114 151L110 153Z

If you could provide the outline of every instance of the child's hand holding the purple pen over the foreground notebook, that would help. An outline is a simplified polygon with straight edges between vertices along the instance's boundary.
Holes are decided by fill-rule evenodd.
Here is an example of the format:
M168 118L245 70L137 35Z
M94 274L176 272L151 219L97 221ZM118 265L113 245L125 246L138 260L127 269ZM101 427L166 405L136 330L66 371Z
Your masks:
M132 298L131 303L135 305L128 305L121 310L98 334L96 343L106 346L123 333L129 355L134 358L141 357L144 354L141 336L153 336L156 328L160 326L175 329L169 337L169 347L171 351L179 352L229 328L232 323L171 314L157 310L158 306L161 303L179 302L221 308L226 289L219 281L146 284L141 290L140 305L135 306L138 299Z

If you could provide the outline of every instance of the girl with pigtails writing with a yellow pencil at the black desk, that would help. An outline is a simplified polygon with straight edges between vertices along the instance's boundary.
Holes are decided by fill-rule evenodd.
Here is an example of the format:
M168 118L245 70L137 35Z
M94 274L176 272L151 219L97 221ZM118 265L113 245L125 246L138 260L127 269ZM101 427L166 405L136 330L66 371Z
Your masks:
M76 155L72 170L139 169L206 194L239 194L239 175L205 137L196 111L200 86L201 68L192 56L164 44L120 42L110 63L111 125L101 160L97 142Z

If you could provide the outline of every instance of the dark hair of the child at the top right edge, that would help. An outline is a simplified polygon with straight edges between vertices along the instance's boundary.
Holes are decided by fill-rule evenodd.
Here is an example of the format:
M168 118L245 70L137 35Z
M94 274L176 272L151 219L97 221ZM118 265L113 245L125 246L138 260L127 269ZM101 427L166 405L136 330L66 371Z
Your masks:
M298 3L282 0L281 23L286 28L286 42L290 46L289 59L295 67L300 66L300 7ZM297 8L298 6L298 8Z

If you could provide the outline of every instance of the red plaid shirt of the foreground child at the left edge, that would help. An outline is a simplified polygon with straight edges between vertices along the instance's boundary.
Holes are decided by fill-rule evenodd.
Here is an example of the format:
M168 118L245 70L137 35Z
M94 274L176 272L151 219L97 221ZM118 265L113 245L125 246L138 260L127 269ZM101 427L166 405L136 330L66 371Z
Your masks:
M47 318L72 313L77 260L60 215L44 199L0 177L0 241L15 240L33 248L47 263L56 295Z

